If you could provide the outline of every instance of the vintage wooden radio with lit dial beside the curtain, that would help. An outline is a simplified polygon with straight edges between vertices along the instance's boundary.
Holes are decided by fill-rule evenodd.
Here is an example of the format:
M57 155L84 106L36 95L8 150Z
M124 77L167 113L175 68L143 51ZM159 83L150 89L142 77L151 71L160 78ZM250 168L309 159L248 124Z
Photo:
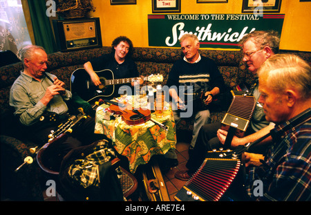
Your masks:
M60 51L102 47L99 18L53 20L53 28Z

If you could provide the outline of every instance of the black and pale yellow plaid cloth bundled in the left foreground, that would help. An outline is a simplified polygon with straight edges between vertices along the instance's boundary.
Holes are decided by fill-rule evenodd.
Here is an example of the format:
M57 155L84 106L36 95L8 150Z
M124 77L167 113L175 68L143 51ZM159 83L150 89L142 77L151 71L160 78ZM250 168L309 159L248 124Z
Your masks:
M84 159L77 159L68 168L68 175L73 179L73 182L84 188L100 185L100 174L98 166L111 160L107 156L106 142L100 141L93 153L90 153Z

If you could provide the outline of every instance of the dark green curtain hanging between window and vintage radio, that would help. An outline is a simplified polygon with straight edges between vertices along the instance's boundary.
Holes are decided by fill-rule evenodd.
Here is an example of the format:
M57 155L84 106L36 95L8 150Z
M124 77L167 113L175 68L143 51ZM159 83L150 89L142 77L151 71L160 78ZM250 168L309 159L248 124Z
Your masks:
M46 0L28 0L28 6L35 35L35 44L44 47L48 54L54 53L57 48L50 20L46 16Z

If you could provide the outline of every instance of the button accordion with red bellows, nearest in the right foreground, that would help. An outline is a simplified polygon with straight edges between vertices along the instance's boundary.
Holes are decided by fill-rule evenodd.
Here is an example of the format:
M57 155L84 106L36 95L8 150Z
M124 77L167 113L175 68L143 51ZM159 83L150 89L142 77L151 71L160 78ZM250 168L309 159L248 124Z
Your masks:
M174 198L178 201L218 201L232 185L242 166L238 154L229 149L209 151L200 168Z

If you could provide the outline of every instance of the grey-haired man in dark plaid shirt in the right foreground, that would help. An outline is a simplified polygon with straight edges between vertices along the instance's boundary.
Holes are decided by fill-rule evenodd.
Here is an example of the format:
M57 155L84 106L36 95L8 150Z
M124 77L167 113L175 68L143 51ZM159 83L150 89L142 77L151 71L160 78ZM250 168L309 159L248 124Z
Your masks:
M265 162L249 168L247 192L256 200L311 200L310 65L295 55L275 55L258 77L258 102L276 126Z

